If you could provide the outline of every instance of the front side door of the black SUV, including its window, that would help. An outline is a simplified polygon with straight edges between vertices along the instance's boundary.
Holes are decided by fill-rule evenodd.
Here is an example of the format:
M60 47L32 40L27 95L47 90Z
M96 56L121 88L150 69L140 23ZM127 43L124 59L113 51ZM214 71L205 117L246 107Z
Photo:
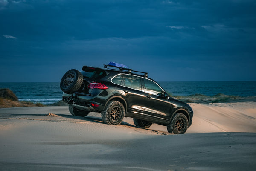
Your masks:
M152 119L168 120L174 106L164 97L163 89L154 81L142 78L144 84L144 113Z

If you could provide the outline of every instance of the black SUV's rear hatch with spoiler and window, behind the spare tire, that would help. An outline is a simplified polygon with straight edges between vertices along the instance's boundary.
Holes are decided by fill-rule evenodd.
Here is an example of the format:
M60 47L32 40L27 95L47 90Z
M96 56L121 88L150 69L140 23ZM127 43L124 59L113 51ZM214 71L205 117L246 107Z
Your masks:
M76 94L80 95L90 95L93 89L89 89L88 85L97 82L97 80L107 75L107 72L104 69L90 66L84 66L81 73L84 76L84 81L80 89L76 92Z

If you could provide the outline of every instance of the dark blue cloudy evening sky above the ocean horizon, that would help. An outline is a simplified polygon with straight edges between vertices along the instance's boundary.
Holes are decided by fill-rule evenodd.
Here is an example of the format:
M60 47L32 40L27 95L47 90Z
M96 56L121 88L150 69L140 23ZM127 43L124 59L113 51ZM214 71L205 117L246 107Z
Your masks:
M156 81L256 81L256 0L0 0L0 82L110 61Z

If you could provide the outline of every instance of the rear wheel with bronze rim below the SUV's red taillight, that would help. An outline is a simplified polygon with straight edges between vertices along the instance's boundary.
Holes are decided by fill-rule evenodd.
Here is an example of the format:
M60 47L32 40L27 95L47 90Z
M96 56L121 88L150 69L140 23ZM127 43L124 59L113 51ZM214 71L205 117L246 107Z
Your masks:
M118 125L125 116L125 108L119 101L109 101L102 111L102 120L105 124Z

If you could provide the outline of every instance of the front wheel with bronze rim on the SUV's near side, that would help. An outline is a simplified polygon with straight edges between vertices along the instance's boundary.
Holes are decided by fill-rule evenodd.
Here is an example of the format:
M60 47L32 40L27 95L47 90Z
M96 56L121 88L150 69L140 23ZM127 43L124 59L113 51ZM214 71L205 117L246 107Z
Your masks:
M167 125L169 133L183 134L189 127L189 121L183 113L175 113L171 122Z

